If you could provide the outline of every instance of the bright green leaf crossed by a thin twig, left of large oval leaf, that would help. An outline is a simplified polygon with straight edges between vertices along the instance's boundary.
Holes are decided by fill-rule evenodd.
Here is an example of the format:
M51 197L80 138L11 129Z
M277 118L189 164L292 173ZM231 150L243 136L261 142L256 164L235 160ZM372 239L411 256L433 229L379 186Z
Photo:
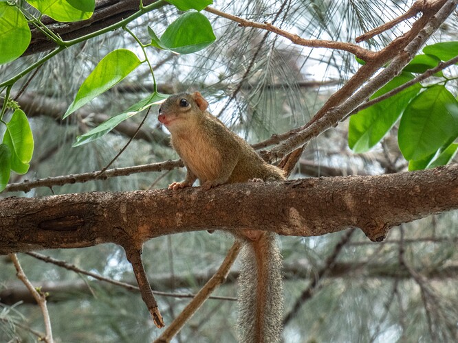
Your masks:
M402 73L375 92L371 99L379 97L412 79L413 75ZM377 144L393 127L408 102L417 95L420 88L419 84L414 84L393 95L393 97L351 116L348 133L348 144L351 150L356 153L367 152Z

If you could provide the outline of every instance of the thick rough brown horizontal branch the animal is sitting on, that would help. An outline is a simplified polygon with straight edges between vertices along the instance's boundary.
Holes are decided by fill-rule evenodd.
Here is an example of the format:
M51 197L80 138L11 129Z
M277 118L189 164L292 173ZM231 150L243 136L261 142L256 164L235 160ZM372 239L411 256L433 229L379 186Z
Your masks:
M458 208L458 165L382 176L308 178L169 191L78 193L0 201L0 254L81 248L195 230L251 228L316 236L391 226Z

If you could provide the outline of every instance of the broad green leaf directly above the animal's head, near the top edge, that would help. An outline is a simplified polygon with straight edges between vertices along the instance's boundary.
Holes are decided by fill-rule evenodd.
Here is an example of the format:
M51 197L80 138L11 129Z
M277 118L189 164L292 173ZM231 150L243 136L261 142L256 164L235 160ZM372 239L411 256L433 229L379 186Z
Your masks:
M157 38L151 27L149 28L151 44L161 49L169 49L177 54L192 54L208 47L215 42L210 21L204 14L190 11L168 25L161 38Z

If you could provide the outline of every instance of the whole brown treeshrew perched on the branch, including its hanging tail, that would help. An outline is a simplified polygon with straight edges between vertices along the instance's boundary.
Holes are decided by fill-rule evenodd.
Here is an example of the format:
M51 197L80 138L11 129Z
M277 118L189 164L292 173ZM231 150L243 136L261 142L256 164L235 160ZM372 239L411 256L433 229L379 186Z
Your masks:
M187 106L184 106L187 104ZM282 169L265 163L250 145L206 110L199 92L168 97L159 119L172 134L171 142L186 165L186 179L169 189L193 185L203 189L226 183L284 180ZM239 230L233 233L246 244L239 287L241 342L277 342L281 335L283 285L281 255L273 233Z

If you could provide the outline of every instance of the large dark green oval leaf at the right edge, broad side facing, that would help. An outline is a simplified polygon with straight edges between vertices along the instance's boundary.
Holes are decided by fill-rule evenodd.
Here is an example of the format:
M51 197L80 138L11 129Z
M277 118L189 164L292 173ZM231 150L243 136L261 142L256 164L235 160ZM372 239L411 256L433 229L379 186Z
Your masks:
M397 140L406 160L421 160L458 136L458 102L440 85L419 93L402 115Z

